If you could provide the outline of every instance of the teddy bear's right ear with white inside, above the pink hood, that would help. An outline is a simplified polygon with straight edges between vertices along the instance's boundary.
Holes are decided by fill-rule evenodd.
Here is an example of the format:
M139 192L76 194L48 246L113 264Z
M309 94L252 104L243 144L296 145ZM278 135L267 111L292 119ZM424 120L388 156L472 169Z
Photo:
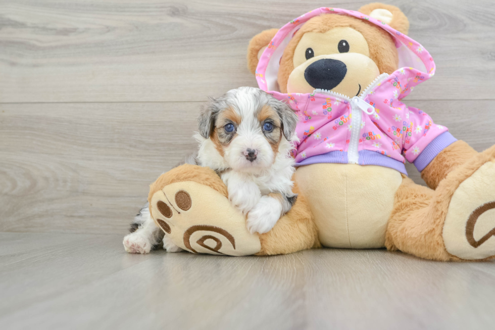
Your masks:
M390 25L399 32L404 34L409 32L409 20L406 15L395 6L374 3L361 7L359 11Z

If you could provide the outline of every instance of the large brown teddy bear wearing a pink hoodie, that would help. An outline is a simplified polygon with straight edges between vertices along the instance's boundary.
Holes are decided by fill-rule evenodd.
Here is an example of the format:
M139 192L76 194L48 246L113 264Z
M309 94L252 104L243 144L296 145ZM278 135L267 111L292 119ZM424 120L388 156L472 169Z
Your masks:
M495 146L478 153L401 100L435 64L397 7L319 8L253 37L259 87L299 116L292 210L251 234L214 171L182 165L151 185L150 212L192 253L400 250L440 261L495 256ZM407 176L405 162L426 186Z

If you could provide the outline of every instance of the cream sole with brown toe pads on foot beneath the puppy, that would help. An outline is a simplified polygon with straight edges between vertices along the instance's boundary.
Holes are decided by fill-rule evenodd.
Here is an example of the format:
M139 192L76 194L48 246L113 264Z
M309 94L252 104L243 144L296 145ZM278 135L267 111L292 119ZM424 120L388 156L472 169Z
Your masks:
M178 247L192 253L244 256L260 252L242 213L213 188L183 181L166 185L151 200L152 217Z

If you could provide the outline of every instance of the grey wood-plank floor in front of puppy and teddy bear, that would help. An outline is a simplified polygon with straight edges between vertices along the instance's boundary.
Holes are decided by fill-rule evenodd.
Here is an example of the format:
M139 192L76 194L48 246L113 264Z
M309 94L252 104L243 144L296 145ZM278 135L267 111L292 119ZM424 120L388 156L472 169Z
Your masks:
M123 253L118 234L0 233L3 329L492 329L493 263L385 250Z

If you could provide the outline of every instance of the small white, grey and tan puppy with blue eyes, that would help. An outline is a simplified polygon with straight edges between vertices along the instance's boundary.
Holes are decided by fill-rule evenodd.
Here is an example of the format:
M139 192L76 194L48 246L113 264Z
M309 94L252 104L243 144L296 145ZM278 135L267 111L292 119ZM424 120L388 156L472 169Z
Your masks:
M207 166L227 185L230 202L247 215L251 233L268 232L295 203L292 193L293 159L290 141L298 117L292 109L259 88L240 87L203 108L199 150L181 164ZM124 238L130 253L148 253L163 239L168 252L178 252L155 225L145 205Z

